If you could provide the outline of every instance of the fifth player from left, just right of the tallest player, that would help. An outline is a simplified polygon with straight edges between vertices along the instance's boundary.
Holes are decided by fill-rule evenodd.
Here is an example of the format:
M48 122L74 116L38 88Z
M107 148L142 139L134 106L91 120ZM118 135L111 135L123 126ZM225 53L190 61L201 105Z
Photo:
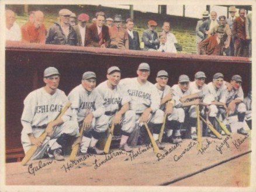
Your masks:
M160 109L167 114L165 127L167 128L168 141L177 144L182 142L180 131L182 122L179 122L178 109L174 108L175 103L172 100L172 89L167 85L168 77L167 71L158 71L155 86L161 97ZM173 130L174 134L172 134Z

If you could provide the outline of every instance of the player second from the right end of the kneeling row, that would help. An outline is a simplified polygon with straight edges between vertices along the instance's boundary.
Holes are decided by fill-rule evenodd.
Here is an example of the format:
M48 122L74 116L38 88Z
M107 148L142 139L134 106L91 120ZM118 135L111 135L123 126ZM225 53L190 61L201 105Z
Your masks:
M219 115L222 116L223 124L227 127L227 129L231 132L230 125L226 118L227 106L226 106L226 82L224 82L224 75L222 73L216 73L213 75L213 81L207 84L209 88L210 95L214 97L212 104L217 106L217 111L210 111L210 117L217 117ZM213 114L216 113L216 114ZM220 132L220 130L218 130ZM221 131L222 135L224 135L224 131ZM215 135L210 135L213 138L216 138Z

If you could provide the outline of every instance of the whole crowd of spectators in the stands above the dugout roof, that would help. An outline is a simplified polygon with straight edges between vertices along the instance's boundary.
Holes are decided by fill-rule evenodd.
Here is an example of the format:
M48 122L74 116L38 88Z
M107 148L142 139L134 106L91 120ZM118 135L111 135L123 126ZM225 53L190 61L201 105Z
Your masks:
M251 13L245 17L245 9L229 8L230 18L219 16L217 12L205 11L196 25L197 53L202 55L251 56ZM6 40L26 43L59 44L69 46L118 48L129 50L160 51L177 53L182 50L175 35L171 33L171 23L162 23L162 32L155 31L158 23L148 20L148 29L142 37L133 30L134 20L124 20L122 15L106 18L104 12L96 12L91 20L87 13L78 16L68 9L58 12L58 22L50 29L43 24L44 13L29 12L27 23L19 27L15 22L15 12L6 10Z

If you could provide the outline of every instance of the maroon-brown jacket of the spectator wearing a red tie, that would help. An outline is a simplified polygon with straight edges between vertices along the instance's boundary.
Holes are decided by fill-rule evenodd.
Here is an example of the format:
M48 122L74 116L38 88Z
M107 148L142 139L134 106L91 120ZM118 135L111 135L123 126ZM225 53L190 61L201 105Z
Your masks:
M106 47L109 46L110 37L109 37L109 27L102 26L102 38L103 44L106 44ZM96 23L87 27L87 32L85 36L85 46L87 47L100 47L99 46L99 34Z

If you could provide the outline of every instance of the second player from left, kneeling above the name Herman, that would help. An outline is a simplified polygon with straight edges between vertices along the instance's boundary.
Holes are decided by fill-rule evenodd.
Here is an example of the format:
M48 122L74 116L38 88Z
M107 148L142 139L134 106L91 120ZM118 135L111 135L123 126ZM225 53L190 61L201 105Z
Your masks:
M81 84L71 90L68 99L79 127L85 130L80 152L101 155L103 151L96 148L96 144L108 129L108 117L104 114L103 99L95 86L96 74L87 71L82 75Z

